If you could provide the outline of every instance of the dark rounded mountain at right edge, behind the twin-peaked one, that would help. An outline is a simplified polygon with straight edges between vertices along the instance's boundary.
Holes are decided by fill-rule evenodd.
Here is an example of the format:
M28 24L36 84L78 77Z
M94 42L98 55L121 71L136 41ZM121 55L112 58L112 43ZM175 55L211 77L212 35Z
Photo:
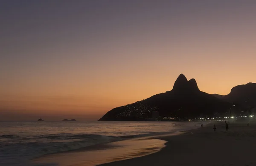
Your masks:
M233 87L228 95L213 94L213 96L233 104L239 104L240 107L256 107L256 83L250 82Z

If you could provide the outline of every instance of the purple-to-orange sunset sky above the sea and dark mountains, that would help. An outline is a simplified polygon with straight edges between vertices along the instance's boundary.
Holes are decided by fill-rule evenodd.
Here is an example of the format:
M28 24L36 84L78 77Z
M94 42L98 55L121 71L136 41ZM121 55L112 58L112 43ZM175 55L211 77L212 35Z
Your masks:
M172 90L256 82L255 0L1 0L0 121L98 120Z

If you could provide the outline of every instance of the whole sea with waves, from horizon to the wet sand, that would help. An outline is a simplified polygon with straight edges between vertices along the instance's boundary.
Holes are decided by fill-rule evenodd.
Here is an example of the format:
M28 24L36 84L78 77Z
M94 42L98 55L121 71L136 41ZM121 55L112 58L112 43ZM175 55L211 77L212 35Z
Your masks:
M34 166L30 160L46 154L194 128L192 122L2 121L0 166Z

